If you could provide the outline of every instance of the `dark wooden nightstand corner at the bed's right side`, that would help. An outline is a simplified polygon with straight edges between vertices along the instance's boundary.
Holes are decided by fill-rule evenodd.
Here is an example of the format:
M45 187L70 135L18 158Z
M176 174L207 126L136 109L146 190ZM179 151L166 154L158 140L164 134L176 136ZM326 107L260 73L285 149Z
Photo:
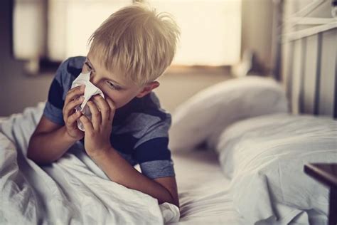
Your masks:
M337 225L337 164L305 164L304 172L330 188L328 224Z

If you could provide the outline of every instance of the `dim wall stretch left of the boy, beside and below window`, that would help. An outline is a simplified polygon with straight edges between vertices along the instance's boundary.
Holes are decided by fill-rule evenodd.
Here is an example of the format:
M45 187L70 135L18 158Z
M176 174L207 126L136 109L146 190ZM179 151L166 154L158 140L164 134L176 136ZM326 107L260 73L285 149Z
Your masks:
M11 0L0 2L0 116L22 112L27 106L45 100L53 79L53 75L25 75L23 62L12 58L11 4L14 4Z

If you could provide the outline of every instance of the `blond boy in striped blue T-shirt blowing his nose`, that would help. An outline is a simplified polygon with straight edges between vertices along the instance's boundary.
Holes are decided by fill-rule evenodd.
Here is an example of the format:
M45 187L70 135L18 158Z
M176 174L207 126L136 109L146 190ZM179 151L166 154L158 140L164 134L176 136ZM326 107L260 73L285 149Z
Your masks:
M109 179L179 207L168 149L171 115L151 92L171 64L178 41L176 23L141 4L120 9L89 39L87 57L68 58L50 85L48 102L28 146L39 164L57 160L80 140ZM85 87L70 89L80 73L102 90L87 105L89 120L75 112ZM77 128L79 119L85 132ZM141 173L134 165L141 167Z

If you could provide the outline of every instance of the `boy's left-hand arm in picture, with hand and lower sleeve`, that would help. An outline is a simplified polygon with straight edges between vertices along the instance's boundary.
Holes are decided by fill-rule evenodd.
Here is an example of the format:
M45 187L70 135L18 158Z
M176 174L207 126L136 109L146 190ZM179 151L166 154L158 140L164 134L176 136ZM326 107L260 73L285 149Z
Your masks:
M53 81L53 83L55 83L55 81ZM58 85L51 85L50 96L53 97L55 95L54 93L63 93L63 90L58 90L57 88ZM77 97L83 95L84 90L84 86L78 86L68 90L65 96L65 102L63 105L59 105L60 108L49 103L50 100L55 102L55 105L58 105L62 100L60 95L56 95L54 98L48 97L45 108L45 111L47 110L46 115L53 117L55 120L60 120L60 118L55 115L63 117L61 121L64 121L65 125L59 125L49 120L48 117L43 114L29 141L28 158L38 164L48 164L60 158L70 146L74 145L77 140L80 140L84 136L84 132L77 128L76 122L81 114L74 112L75 107L82 103L83 98Z

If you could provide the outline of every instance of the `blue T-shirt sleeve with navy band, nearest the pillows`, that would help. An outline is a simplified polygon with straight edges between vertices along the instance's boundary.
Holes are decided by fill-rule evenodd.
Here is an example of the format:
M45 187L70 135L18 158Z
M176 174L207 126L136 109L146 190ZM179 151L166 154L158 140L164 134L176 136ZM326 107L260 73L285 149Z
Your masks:
M135 159L141 173L150 179L174 177L173 161L169 150L171 115L151 125L135 145Z

